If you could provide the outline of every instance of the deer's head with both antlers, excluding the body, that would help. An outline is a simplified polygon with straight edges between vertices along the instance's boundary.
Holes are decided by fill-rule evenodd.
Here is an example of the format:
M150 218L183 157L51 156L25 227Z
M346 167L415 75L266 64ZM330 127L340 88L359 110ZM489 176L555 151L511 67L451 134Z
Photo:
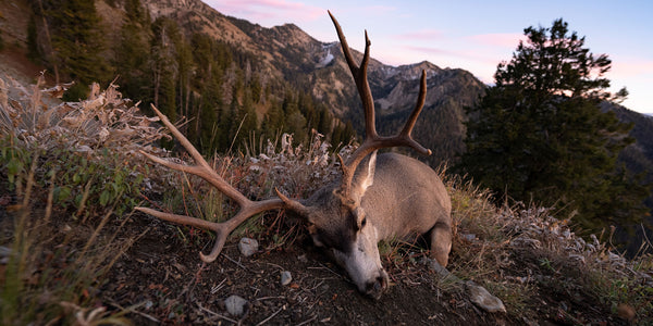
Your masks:
M378 299L387 287L389 277L381 265L379 255L379 230L372 223L368 223L368 214L373 214L373 212L366 212L361 206L361 200L374 183L377 150L402 146L414 148L422 154L429 155L431 153L430 150L415 141L410 135L426 99L426 73L422 72L417 104L404 128L396 136L379 136L374 125L374 102L367 78L367 67L370 59L370 40L367 32L365 54L360 65L357 65L338 22L331 12L329 12L329 15L337 32L345 60L362 101L366 123L366 138L360 147L346 161L338 156L342 167L340 180L332 186L318 190L310 198L301 201L289 199L279 190L276 190L278 198L250 201L224 181L174 125L152 106L163 124L190 153L197 165L181 165L143 153L159 164L204 178L234 200L241 206L241 210L226 222L210 223L147 208L136 209L161 220L214 230L217 240L213 249L208 255L200 253L205 262L212 262L218 258L229 234L248 217L267 210L287 209L307 222L308 230L316 246L324 247L333 253L336 262L347 271L358 290Z

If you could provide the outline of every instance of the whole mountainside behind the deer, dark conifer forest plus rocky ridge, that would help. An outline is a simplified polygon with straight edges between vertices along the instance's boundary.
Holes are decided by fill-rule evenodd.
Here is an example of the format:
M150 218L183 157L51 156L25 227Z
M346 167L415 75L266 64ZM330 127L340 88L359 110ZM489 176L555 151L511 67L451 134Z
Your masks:
M315 129L334 145L362 133L360 101L340 43L318 41L295 25L263 28L199 0L16 1L11 10L24 17L12 38L32 60L52 79L78 82L69 100L82 98L91 82L115 78L144 110L152 103L172 120L186 117L184 131L204 152L225 151L234 139L236 148L261 136L275 139L280 131L303 141ZM429 160L438 164L463 150L463 109L484 86L463 70L371 60L382 133L394 133L407 117L421 70L429 88L415 134L433 149Z

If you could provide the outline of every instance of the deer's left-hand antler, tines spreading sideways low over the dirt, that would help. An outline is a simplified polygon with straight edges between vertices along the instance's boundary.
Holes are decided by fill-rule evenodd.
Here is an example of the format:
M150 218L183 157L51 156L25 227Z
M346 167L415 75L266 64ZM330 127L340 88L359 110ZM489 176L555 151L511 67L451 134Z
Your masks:
M182 135L182 133L180 133L180 130L177 130L177 128L175 128L174 125L172 123L170 123L170 121L168 120L168 117L165 115L163 115L163 113L159 112L159 110L157 110L157 108L155 108L155 105L151 105L151 108L152 108L152 110L155 110L157 115L161 118L163 124L170 129L172 135L188 151L188 153L190 153L190 155L193 156L193 159L195 160L195 163L197 165L176 164L176 163L172 163L170 161L163 160L161 158L151 155L144 151L140 151L140 153L143 153L144 155L146 155L148 159L152 160L156 163L168 166L172 170L177 170L181 172L194 174L194 175L209 181L211 185L213 185L215 188L218 188L218 190L220 190L220 192L224 193L226 197L229 197L233 201L235 201L241 206L241 210L238 211L238 213L236 215L234 215L232 218L230 218L229 221L223 222L223 223L213 223L213 222L208 222L205 220L190 217L190 216L186 216L186 215L163 213L163 212L159 212L159 211L148 209L148 208L138 206L138 208L136 208L136 210L147 213L147 214L150 214L152 216L159 217L164 221L169 221L169 222L173 222L173 223L177 223L177 224L190 225L190 226L200 227L200 228L205 228L205 229L211 229L211 230L215 231L215 244L213 244L213 249L211 250L211 252L208 255L205 255L201 252L199 253L202 261L210 263L218 258L218 255L220 254L220 251L222 251L222 247L224 247L226 237L238 225L241 225L247 218L251 217L252 215L255 215L257 213L260 213L263 211L269 211L269 210L281 209L285 204L279 198L268 199L268 200L262 200L262 201L251 201L251 200L247 199L247 197L245 197L243 193L241 193L234 187L229 185L222 177L220 177L220 175L218 173L215 173L215 171L213 168L211 168L209 163L207 163L207 161L201 156L201 154L197 151L197 149L195 149L195 147L193 147L190 141L188 141L188 139L186 139L186 137L184 137L184 135Z

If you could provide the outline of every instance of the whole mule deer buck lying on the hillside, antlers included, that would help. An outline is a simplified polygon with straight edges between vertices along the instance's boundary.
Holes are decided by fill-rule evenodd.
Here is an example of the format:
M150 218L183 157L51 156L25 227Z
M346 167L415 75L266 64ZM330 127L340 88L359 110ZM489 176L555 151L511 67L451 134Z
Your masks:
M387 273L381 265L378 242L382 239L411 235L427 235L430 256L446 266L452 247L451 201L442 180L428 165L397 153L377 154L379 149L410 147L422 154L431 151L410 136L424 104L427 77L422 72L415 110L403 130L394 137L377 134L374 102L367 78L370 40L366 32L362 62L356 65L343 36L342 28L329 12L340 38L347 65L352 71L365 110L366 139L346 162L340 158L342 177L306 200L296 201L276 190L278 198L250 201L230 186L202 159L190 142L156 108L163 124L190 153L197 165L172 163L143 152L150 160L173 170L197 175L209 181L241 210L231 220L211 223L204 220L163 213L147 208L137 210L169 222L192 225L217 233L210 254L200 253L201 260L212 262L220 254L229 234L248 217L268 210L286 209L308 225L318 247L331 250L358 290L374 299L387 288Z

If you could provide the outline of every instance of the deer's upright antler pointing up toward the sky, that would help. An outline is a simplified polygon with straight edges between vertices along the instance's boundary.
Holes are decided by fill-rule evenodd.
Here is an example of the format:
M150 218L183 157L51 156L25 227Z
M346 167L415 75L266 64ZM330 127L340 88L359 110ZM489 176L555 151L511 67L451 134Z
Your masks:
M406 125L404 125L402 131L392 137L379 136L379 134L377 134L377 127L374 125L374 99L372 98L372 91L370 90L370 85L367 78L367 67L370 61L371 45L370 39L367 35L367 30L365 32L365 54L362 57L360 65L356 65L356 62L354 62L354 57L349 51L347 40L343 35L343 30L340 24L337 23L337 20L333 16L333 14L331 14L331 11L329 11L329 15L331 16L331 21L333 21L333 25L335 25L335 30L337 32L337 37L341 41L345 60L347 61L347 65L349 66L349 71L352 71L352 76L354 77L354 82L356 83L356 88L358 89L358 95L360 96L360 100L362 101L362 110L365 113L365 141L360 145L360 147L358 147L358 149L356 149L352 156L349 156L346 163L343 162L343 159L338 156L343 170L341 191L343 192L343 195L347 196L352 188L352 180L354 178L356 167L358 166L358 164L360 164L365 156L367 156L374 150L390 147L406 146L417 150L418 152L424 155L431 154L431 150L419 145L412 139L412 136L410 135L412 133L415 122L417 121L417 117L419 116L419 113L421 112L427 98L427 73L422 71L417 103L415 105L415 109L412 110L412 113L410 113Z

